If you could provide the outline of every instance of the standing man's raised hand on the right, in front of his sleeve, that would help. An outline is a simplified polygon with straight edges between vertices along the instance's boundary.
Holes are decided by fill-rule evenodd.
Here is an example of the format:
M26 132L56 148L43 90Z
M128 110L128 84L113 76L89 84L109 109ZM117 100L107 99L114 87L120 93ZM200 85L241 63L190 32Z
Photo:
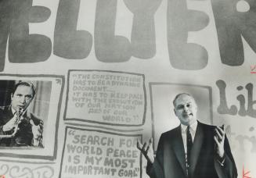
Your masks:
M223 158L223 156L224 156L224 141L225 141L224 125L216 126L214 139L215 139L217 154L220 158Z

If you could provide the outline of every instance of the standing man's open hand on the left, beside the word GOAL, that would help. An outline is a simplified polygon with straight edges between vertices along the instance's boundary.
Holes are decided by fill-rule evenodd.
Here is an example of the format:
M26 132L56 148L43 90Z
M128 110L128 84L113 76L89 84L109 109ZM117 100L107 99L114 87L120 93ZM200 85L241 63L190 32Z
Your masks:
M144 142L143 145L139 140L137 140L137 148L139 149L139 151L142 152L146 160L151 163L153 163L153 160L154 160L152 143L153 143L153 138L150 138L150 141L148 142Z

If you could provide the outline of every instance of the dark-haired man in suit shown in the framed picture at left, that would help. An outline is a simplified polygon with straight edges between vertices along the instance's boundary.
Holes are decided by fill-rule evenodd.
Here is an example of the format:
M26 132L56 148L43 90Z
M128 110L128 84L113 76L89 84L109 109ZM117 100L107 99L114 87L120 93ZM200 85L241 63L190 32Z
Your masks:
M0 108L0 146L42 147L43 121L27 112L36 91L31 83L16 84L11 105Z

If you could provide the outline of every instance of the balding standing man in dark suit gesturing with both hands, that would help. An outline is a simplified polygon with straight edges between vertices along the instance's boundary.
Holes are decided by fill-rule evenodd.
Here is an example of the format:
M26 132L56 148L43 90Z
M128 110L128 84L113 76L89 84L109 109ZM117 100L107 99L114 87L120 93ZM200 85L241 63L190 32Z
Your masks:
M156 158L152 138L137 147L147 160L151 178L235 178L236 164L224 127L197 121L197 103L190 94L178 94L174 101L180 125L162 133Z

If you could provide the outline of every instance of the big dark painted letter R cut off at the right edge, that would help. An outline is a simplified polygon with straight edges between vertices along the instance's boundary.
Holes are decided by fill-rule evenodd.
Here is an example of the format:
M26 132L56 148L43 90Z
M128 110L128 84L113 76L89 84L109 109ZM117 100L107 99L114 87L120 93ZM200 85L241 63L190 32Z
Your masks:
M222 63L229 66L243 64L244 54L241 35L256 52L256 2L247 1L251 8L248 12L237 12L237 2L233 0L211 1Z

